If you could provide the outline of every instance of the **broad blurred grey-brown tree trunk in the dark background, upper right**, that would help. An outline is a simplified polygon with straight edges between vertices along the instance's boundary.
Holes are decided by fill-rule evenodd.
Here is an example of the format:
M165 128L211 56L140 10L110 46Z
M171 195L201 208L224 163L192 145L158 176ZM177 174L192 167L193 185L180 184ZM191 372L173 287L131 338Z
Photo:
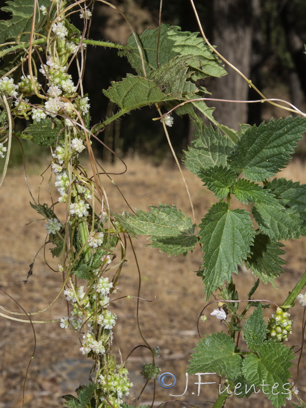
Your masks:
M247 78L250 75L252 55L253 0L217 0L213 5L212 42L218 52L235 65ZM232 68L225 66L228 74L212 80L209 90L212 97L246 100L248 84ZM247 121L247 104L215 102L214 117L232 129Z

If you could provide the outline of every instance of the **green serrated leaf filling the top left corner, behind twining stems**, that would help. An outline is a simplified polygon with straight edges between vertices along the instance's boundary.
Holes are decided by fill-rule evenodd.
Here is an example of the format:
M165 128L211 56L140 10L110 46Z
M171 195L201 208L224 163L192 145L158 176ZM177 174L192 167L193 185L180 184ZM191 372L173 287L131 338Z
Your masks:
M37 9L40 6L49 7L50 2L48 0L39 0ZM31 31L31 24L33 18L33 1L32 0L14 0L8 1L7 6L1 8L1 10L12 14L10 20L0 20L0 44L8 42L9 40L15 40L21 33ZM40 19L39 19L40 16ZM38 13L36 15L35 24L38 27L39 22L44 16ZM25 34L21 37L22 41L28 41L30 34Z

